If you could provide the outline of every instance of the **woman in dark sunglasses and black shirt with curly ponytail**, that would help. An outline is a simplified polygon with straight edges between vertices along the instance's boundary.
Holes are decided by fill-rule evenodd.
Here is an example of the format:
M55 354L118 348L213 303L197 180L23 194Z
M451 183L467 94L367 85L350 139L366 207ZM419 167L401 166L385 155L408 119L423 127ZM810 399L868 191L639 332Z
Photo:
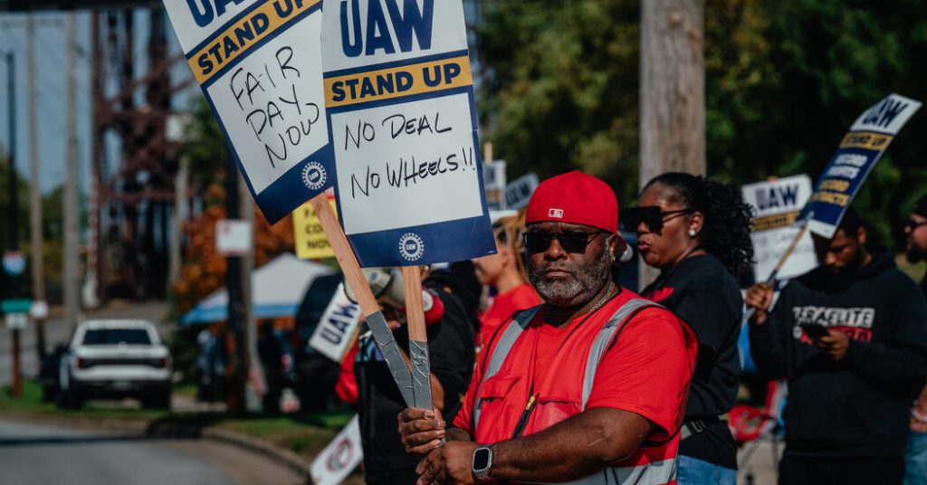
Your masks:
M679 483L734 484L737 447L720 416L737 397L743 299L735 279L753 259L752 210L739 187L688 173L644 186L621 222L660 275L641 294L685 320L699 338L679 442Z

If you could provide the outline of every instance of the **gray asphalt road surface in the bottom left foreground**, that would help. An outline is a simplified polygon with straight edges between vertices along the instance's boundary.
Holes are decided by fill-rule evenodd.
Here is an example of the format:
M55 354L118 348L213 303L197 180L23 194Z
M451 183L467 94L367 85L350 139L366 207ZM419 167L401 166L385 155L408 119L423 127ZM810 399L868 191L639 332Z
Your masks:
M0 420L0 484L304 483L286 466L211 440L149 440Z

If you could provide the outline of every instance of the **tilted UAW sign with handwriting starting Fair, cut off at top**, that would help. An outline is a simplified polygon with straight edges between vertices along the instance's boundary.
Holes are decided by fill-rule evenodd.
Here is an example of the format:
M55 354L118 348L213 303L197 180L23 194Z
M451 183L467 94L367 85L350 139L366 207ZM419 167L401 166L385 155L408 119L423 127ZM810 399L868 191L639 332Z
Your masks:
M164 0L264 217L332 185L322 87L322 0Z

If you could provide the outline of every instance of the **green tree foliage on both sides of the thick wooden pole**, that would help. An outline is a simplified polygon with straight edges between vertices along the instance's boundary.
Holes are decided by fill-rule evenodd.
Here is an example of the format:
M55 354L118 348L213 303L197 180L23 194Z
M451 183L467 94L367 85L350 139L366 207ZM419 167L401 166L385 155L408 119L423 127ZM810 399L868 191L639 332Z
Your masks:
M708 174L817 178L857 116L889 93L927 100L927 0L706 0ZM580 168L623 203L639 163L640 4L494 2L480 32L480 108L510 176ZM888 241L927 189L919 113L857 197ZM887 242L887 241L886 241Z

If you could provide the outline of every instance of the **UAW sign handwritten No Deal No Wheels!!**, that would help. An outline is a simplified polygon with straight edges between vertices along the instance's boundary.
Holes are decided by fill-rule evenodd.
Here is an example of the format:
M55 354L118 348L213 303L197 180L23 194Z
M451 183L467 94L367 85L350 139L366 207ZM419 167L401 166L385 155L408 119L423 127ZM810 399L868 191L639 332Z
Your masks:
M495 251L461 0L324 0L338 213L362 266Z

